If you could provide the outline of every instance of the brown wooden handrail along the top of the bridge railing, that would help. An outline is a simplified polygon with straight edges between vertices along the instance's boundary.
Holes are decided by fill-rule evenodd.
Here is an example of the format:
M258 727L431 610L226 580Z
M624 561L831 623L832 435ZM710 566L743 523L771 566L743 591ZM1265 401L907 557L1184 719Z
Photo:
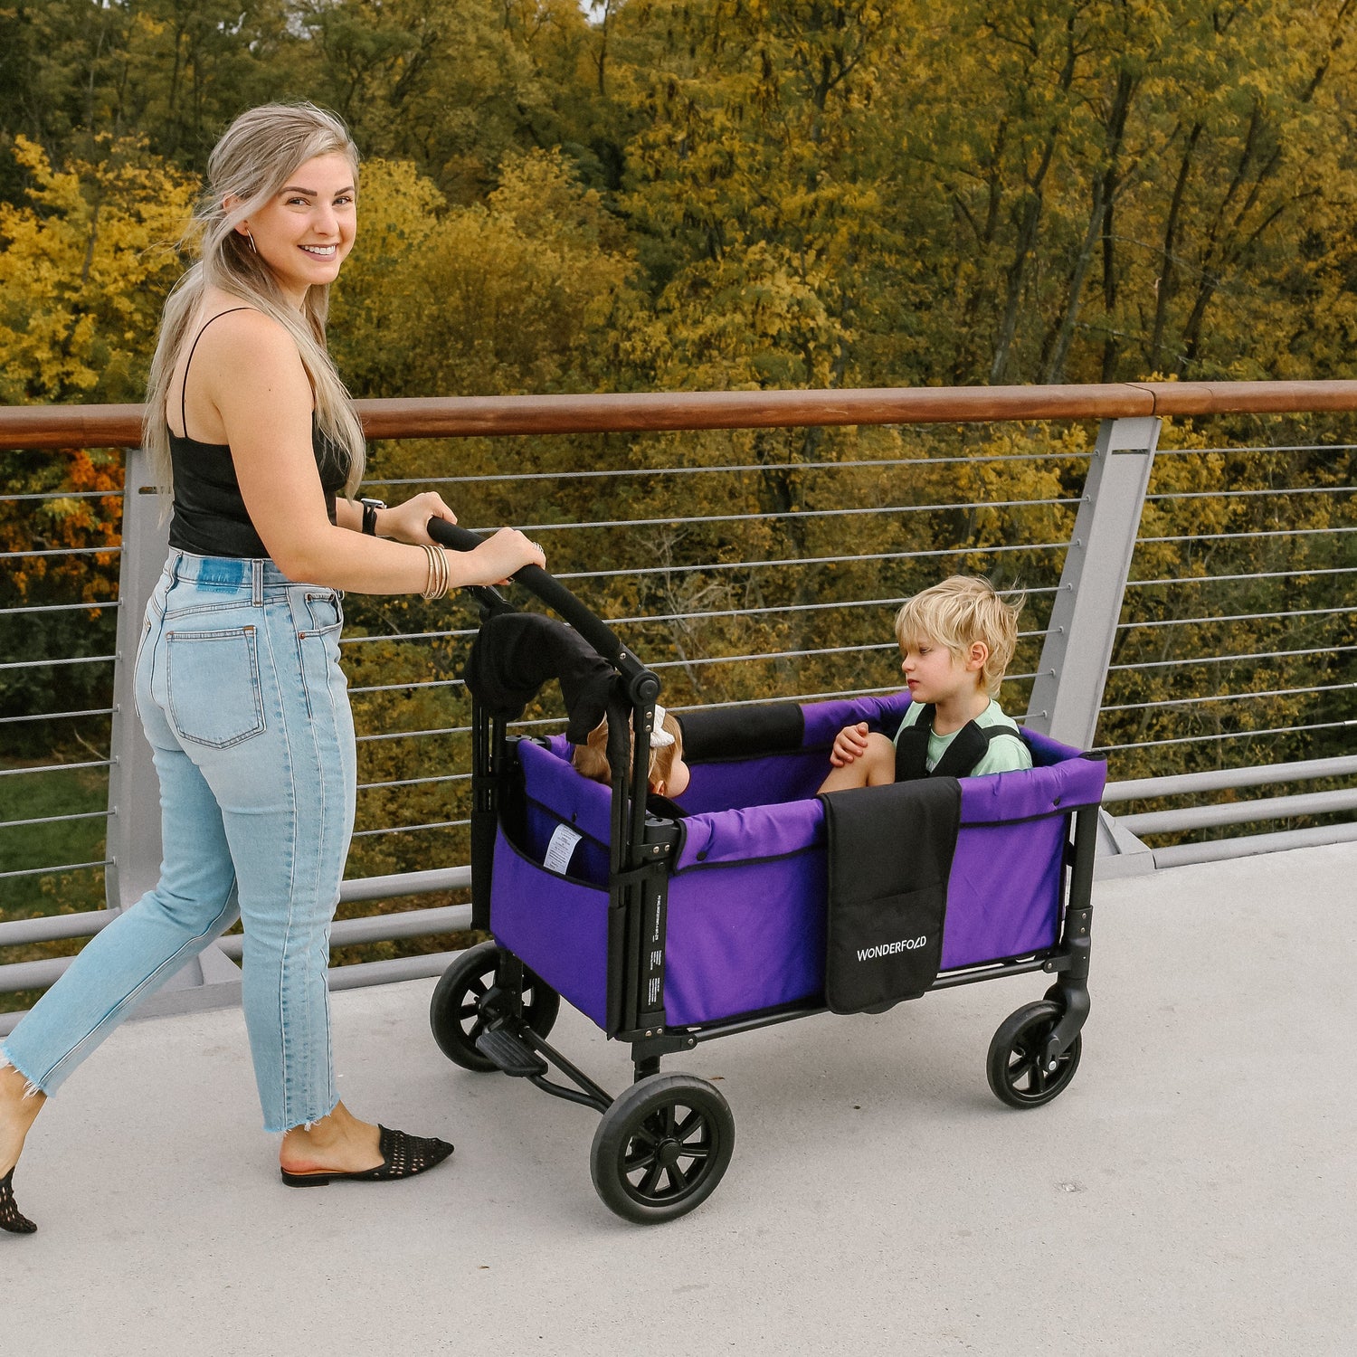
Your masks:
M988 423L1357 410L1357 381L1124 381L1084 387L654 391L360 400L369 438ZM0 406L0 448L132 448L141 406Z

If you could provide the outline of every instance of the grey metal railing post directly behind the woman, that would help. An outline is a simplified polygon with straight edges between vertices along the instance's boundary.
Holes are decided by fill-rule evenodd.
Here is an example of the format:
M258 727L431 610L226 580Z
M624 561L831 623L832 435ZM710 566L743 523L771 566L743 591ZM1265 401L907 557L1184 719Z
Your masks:
M118 913L134 905L160 877L160 780L133 700L133 672L147 600L170 550L149 455L130 448L122 493L122 558L118 577L118 646L113 666L113 730L109 769L109 848L104 900ZM216 991L210 997L204 989ZM190 961L141 1011L178 1012L233 1001L240 968L217 944Z

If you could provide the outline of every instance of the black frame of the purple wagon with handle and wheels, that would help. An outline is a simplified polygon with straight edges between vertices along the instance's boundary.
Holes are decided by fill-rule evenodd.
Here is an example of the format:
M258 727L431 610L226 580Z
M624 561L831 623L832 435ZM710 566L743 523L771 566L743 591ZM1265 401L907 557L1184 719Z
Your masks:
M471 550L480 537L432 520L436 540ZM661 1075L665 1056L699 1042L828 1012L806 1000L715 1022L670 1027L664 1007L666 902L670 864L681 829L646 806L645 760L660 680L616 634L546 570L528 566L514 581L547 604L615 669L608 697L608 761L612 768L607 1022L611 1039L631 1046L632 1086L613 1096L547 1041L559 996L521 958L495 942L453 961L434 991L430 1025L444 1053L463 1068L524 1077L543 1092L597 1110L590 1170L604 1202L624 1219L657 1223L685 1215L715 1189L734 1147L734 1120L714 1084L688 1075ZM482 622L516 609L483 586L467 589ZM513 797L520 738L472 696L471 921L490 931L494 845ZM634 765L634 767L632 767ZM991 1042L987 1076L996 1096L1035 1107L1068 1086L1079 1064L1080 1030L1090 1010L1088 962L1098 806L1071 813L1067 830L1060 936L1054 946L1011 959L942 972L931 989L950 989L999 976L1045 972L1054 982L1038 1003L1014 1012ZM559 1077L551 1077L555 1072Z

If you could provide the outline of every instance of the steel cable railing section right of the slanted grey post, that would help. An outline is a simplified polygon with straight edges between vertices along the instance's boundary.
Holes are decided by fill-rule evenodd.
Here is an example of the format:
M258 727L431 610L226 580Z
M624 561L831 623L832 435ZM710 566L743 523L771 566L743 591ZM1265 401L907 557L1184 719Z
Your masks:
M1134 795L1118 799L1141 806L1118 816L1117 824L1145 836L1159 864L1255 851L1265 839L1267 847L1277 847L1353 833L1353 794L1341 783L1357 767L1341 759L1305 764L1322 769L1315 776L1334 780L1327 791L1307 797L1242 797L1240 791L1285 782L1285 769L1299 767L1288 759L1316 744L1323 748L1327 741L1341 750L1345 733L1357 725L1349 715L1357 688L1357 565L1342 559L1353 559L1349 541L1357 513L1350 497L1357 487L1337 460L1350 459L1354 451L1352 444L1286 444L1160 453L1156 483L1145 497L1147 521L1136 543L1099 723L1101 746L1129 771L1148 771L1160 750L1168 749L1186 752L1179 759L1216 764L1213 780L1191 773L1197 782L1140 778L1125 783ZM1311 474L1318 471L1329 483L1297 483L1292 455L1316 459ZM1201 476L1206 457L1223 460L1231 479L1221 483L1217 471L1215 486L1164 483ZM1267 483L1248 483L1250 476ZM1177 516L1201 512L1196 506L1216 513L1216 522L1208 531L1175 531ZM1137 569L1143 560L1159 569ZM1170 560L1187 569L1164 570ZM1190 607L1185 590L1198 596L1205 586L1212 586L1216 607ZM1285 589L1285 608L1247 607L1266 597L1261 590L1272 589L1276 597L1277 588ZM1231 608L1235 600L1246 607ZM1186 673L1196 677L1193 691L1185 692ZM1166 693L1160 687L1156 692L1153 685L1163 683L1178 691ZM1276 775L1258 773L1247 764L1228 767L1248 753L1255 760L1261 753L1280 760ZM1166 801L1183 795L1225 799L1190 806ZM1277 821L1289 828L1278 833ZM1259 828L1272 832L1259 835ZM1231 840L1238 840L1234 849L1221 847Z

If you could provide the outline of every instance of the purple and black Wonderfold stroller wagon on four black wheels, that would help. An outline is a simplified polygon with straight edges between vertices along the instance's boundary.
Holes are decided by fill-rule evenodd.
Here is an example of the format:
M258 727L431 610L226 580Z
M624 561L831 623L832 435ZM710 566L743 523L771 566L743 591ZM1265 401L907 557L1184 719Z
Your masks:
M430 532L463 550L479 541L440 520ZM594 1187L642 1224L692 1210L730 1163L734 1118L719 1090L660 1072L662 1057L715 1037L825 1011L878 1012L928 989L1039 970L1054 984L999 1026L987 1073L1012 1107L1064 1091L1088 1014L1101 760L1025 731L1030 771L925 779L947 784L930 794L950 795L954 807L940 881L894 886L885 905L904 901L908 920L923 897L939 901L936 940L911 925L862 946L833 900L852 894L862 840L840 830L836 848L841 817L816 788L839 729L867 721L893 731L908 695L684 712L689 787L678 807L647 805L646 760L631 757L631 744L632 731L649 744L660 681L546 571L525 567L516 579L574 627L574 645L607 661L612 786L575 772L563 737L509 738L503 711L487 710L468 672L472 924L494 940L463 953L434 991L430 1025L452 1061L600 1111ZM524 616L493 589L470 592L482 605L478 645L495 619ZM892 790L836 795L879 807L873 798ZM897 821L879 837L908 848L912 836ZM890 844L883 851L889 859ZM931 961L909 955L915 949ZM835 980L845 959L856 970L905 961L908 976L845 1001ZM560 997L630 1042L635 1082L616 1098L548 1045Z

